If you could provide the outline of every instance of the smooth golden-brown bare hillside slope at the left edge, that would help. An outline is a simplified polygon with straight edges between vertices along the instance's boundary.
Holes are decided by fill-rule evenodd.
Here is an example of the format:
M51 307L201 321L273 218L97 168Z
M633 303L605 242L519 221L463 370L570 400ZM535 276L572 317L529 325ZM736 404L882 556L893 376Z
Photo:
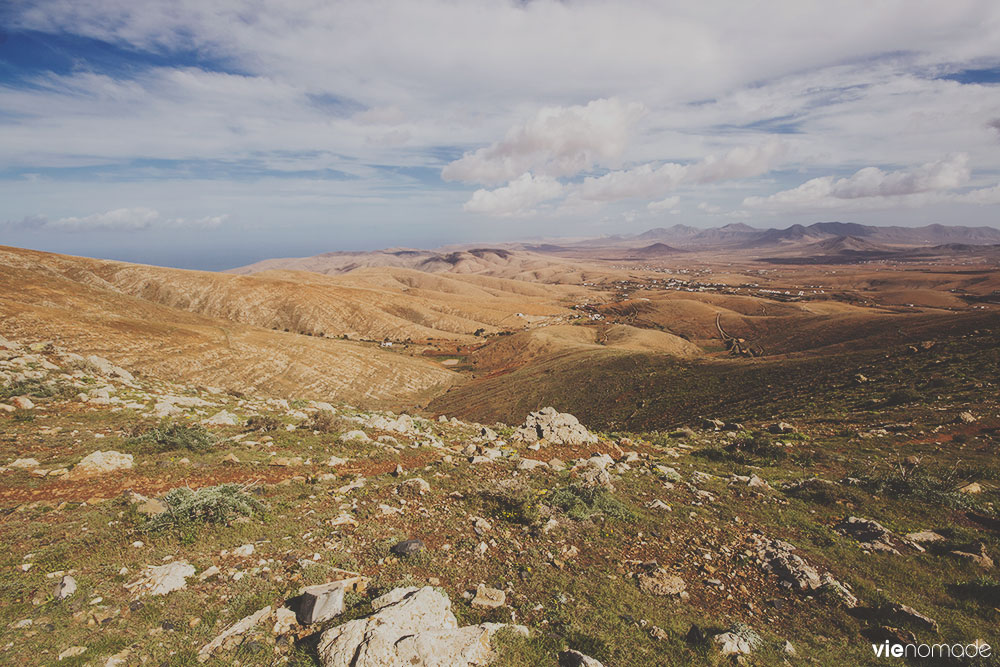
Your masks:
M169 284L171 276L176 284ZM7 336L58 339L159 377L241 392L294 389L327 400L398 405L456 379L438 364L371 344L272 331L175 307L216 293L227 278L239 280L0 248L0 329ZM203 291L183 297L181 286L190 280L204 281ZM173 297L163 301L177 303L144 298L166 294Z

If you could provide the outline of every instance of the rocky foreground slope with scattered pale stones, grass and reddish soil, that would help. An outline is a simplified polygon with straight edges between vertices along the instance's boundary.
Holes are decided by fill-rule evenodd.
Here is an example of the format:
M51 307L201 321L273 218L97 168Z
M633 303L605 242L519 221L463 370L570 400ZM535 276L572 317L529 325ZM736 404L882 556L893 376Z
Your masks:
M487 426L227 393L5 339L0 388L10 664L861 664L886 639L998 644L995 393L608 434L553 408Z

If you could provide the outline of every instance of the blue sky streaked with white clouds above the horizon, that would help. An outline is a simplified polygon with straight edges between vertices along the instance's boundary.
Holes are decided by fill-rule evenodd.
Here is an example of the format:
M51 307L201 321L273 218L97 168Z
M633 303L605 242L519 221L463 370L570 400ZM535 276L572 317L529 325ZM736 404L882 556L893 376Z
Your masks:
M1000 3L4 0L0 244L1000 226Z

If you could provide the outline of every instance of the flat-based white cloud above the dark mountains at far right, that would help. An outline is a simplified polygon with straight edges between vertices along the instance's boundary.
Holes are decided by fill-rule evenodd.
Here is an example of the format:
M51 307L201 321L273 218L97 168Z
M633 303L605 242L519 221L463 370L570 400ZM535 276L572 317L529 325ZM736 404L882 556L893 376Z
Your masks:
M837 206L858 208L858 205L852 203L853 200L874 199L898 203L901 199L911 195L938 193L960 188L968 183L969 178L969 156L958 153L909 170L887 172L878 167L865 167L845 178L834 178L833 176L813 178L796 188L783 190L767 197L747 197L743 203L745 206L755 208L835 208ZM923 198L919 201L926 200L927 198ZM884 205L885 201L876 202L875 205ZM872 202L862 202L860 207L871 204Z

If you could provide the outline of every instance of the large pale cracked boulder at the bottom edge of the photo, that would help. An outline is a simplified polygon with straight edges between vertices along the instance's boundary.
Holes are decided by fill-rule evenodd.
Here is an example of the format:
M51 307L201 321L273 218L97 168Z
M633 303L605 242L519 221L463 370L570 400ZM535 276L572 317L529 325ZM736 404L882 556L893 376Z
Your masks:
M473 667L493 659L503 623L458 627L448 597L431 588L397 588L372 601L375 612L323 633L324 667ZM527 633L526 628L513 626Z

